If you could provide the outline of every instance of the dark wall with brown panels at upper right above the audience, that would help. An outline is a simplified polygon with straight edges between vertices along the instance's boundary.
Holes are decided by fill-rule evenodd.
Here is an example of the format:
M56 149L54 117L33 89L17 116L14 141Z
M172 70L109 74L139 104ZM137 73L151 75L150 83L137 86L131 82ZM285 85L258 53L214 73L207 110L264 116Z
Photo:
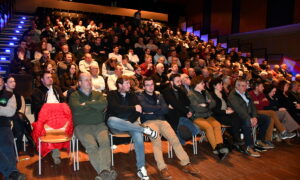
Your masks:
M300 0L187 0L187 26L216 35L300 23Z

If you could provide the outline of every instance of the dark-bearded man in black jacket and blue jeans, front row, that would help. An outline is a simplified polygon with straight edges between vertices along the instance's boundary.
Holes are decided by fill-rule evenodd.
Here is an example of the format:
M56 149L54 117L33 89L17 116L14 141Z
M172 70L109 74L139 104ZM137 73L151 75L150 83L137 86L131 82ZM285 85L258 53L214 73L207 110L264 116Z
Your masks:
M189 134L185 131L187 128L190 131L190 136L200 133L189 118L193 113L189 110L190 100L181 87L181 78L179 74L173 74L170 76L170 86L162 91L163 97L168 104L169 111L166 114L166 119L177 133L181 144L185 143L185 139L182 134ZM182 128L185 126L186 128Z

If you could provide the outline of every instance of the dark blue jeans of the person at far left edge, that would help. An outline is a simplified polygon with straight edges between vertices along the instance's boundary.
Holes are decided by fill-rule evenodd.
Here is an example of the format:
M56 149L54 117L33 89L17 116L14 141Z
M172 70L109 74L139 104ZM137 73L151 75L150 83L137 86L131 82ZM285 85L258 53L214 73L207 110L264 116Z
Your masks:
M10 127L0 127L0 172L4 179L16 168L16 154L14 149L14 137Z

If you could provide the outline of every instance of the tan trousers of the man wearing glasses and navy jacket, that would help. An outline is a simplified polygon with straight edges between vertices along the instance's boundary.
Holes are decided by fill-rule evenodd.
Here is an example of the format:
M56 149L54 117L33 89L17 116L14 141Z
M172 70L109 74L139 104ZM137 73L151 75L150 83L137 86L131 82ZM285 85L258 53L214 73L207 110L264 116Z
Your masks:
M175 152L177 158L180 160L180 164L182 166L185 166L188 163L190 163L190 159L189 159L187 153L182 148L173 128L167 121L148 120L148 121L144 122L143 124L146 126L149 126L151 129L157 131L160 135L162 135L164 138L166 138L169 141L170 145L174 149L174 152ZM157 163L157 167L161 171L164 168L167 168L167 165L163 158L160 135L156 139L150 138L150 140L153 145L154 158Z

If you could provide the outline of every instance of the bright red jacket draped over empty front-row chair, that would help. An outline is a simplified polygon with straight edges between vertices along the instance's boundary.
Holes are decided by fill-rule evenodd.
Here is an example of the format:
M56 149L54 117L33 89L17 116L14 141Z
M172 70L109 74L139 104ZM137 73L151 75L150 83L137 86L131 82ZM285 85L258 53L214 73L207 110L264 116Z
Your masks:
M46 135L44 125L47 124L53 129L60 129L68 122L65 133L73 135L73 120L70 107L66 103L46 103L39 112L38 121L32 123L32 137L38 147L38 139ZM41 155L46 156L52 149L66 148L70 150L70 142L64 143L43 143Z

